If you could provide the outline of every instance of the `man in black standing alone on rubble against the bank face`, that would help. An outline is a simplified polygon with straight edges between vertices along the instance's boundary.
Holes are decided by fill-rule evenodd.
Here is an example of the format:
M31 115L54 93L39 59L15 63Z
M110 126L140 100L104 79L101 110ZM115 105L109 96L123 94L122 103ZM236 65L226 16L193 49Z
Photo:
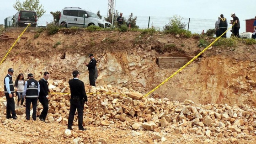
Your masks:
M91 61L89 62L89 64L85 63L85 65L88 67L88 70L89 70L90 85L96 86L94 76L95 76L95 67L96 67L97 61L94 59L93 54L89 54L89 58L91 59Z

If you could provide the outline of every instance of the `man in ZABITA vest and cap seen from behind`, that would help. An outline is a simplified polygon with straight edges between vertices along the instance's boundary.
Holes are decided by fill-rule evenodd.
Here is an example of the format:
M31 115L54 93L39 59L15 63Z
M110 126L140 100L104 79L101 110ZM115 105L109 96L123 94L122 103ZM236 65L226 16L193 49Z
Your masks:
M32 103L32 118L37 119L37 99L40 92L40 85L37 80L33 78L33 74L27 75L28 80L24 85L24 96L26 99L26 119L30 119L30 106Z

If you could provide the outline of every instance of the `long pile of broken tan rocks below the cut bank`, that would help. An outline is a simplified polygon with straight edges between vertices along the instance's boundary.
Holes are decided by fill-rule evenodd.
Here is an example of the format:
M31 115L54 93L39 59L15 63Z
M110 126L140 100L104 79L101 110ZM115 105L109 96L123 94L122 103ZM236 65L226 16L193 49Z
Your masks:
M52 93L69 91L65 82L60 84L54 81L51 84ZM164 135L170 132L205 139L227 138L231 142L237 139L252 139L256 135L256 108L252 106L197 105L190 100L179 102L167 98L154 99L143 97L137 91L112 85L86 85L86 90L89 92L88 106L84 109L85 126L131 129L135 134L141 130L165 133L160 134L157 139L165 139ZM48 123L67 125L69 98L69 94L51 96L46 120ZM5 97L0 101L0 113L3 116ZM38 103L37 115L40 115L42 110L41 103ZM25 107L17 108L16 113L25 117ZM75 117L74 125L77 124ZM64 133L64 137L69 135L67 133Z

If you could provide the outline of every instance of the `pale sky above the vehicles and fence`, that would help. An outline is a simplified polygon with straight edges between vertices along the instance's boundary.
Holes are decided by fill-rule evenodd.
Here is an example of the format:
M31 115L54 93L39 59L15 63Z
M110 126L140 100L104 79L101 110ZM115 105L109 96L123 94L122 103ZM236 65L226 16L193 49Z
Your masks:
M20 0L21 2L25 0ZM39 0L46 11L44 16L50 16L50 11L61 11L64 7L80 7L86 11L107 16L108 0ZM17 12L13 5L16 0L5 0L0 5L0 24L4 19ZM172 17L178 15L184 18L212 19L217 21L220 14L231 20L234 12L240 19L240 33L245 32L245 19L256 16L255 5L251 0L115 0L115 10L123 12L123 16L160 16ZM38 21L40 23L40 19ZM213 26L214 28L214 26Z

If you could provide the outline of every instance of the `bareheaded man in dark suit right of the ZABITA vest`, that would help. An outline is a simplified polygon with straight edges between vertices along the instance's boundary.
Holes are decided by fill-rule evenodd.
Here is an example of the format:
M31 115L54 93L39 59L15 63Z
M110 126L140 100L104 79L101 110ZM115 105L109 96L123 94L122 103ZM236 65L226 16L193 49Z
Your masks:
M39 85L40 85L40 92L39 92L39 101L42 103L43 105L43 111L41 112L41 115L39 116L39 119L41 121L43 121L44 123L45 122L45 118L47 116L47 113L48 113L48 104L49 104L49 96L48 96L48 91L49 91L49 88L48 88L48 82L47 80L49 79L50 77L50 73L48 73L47 71L43 73L43 78L41 80L39 80Z

